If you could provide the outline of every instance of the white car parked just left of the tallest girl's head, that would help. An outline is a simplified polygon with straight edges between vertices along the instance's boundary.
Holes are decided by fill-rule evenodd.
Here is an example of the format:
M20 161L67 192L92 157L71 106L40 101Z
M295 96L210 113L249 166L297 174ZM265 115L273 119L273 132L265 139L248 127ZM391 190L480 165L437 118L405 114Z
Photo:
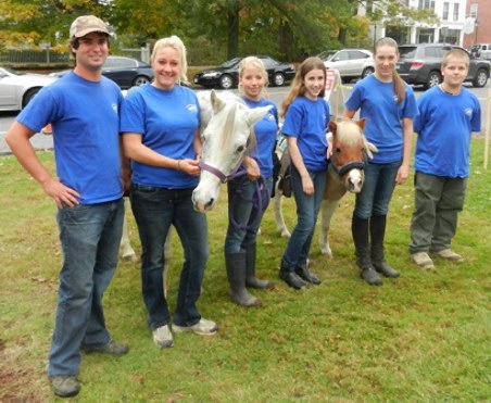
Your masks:
M342 49L322 52L318 55L324 60L326 68L339 71L344 83L353 78L365 78L375 72L374 55L365 49Z

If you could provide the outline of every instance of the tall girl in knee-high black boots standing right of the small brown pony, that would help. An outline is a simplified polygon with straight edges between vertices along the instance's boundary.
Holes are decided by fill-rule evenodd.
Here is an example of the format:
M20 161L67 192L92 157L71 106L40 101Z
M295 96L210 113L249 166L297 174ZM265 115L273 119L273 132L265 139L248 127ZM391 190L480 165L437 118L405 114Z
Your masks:
M354 86L343 118L352 118L360 110L360 117L366 118L365 136L378 149L365 164L365 182L356 194L351 229L362 278L372 286L381 286L378 273L399 277L386 263L383 239L394 186L410 176L417 108L412 88L395 71L398 43L392 38L379 39L374 60L375 73Z

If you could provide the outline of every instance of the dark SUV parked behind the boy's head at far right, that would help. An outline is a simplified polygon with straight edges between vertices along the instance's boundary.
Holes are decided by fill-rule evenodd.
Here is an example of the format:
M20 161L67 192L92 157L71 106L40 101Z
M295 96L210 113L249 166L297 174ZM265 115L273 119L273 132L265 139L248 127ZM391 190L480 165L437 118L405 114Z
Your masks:
M423 85L425 88L438 86L442 81L441 62L443 55L452 49L465 49L448 43L401 45L400 60L396 68L399 75L407 83ZM469 54L469 74L466 81L474 87L484 87L490 76L491 63Z

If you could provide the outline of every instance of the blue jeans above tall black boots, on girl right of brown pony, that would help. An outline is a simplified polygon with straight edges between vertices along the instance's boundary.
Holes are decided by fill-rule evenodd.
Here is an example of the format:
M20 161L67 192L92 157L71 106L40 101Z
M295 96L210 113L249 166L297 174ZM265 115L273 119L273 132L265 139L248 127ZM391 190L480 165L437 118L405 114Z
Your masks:
M373 215L387 215L400 166L400 161L365 164L365 181L362 191L356 194L354 206L356 217L368 219Z

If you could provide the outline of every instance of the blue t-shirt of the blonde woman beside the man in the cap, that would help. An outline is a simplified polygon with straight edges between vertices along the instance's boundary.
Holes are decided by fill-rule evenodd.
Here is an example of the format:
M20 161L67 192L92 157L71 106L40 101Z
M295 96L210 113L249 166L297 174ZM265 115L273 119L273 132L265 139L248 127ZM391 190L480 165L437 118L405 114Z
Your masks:
M194 138L200 125L196 93L176 85L163 90L147 84L133 88L123 102L121 131L137 133L142 143L171 159L196 159ZM131 162L135 184L158 188L185 189L198 185L199 178L182 171Z

